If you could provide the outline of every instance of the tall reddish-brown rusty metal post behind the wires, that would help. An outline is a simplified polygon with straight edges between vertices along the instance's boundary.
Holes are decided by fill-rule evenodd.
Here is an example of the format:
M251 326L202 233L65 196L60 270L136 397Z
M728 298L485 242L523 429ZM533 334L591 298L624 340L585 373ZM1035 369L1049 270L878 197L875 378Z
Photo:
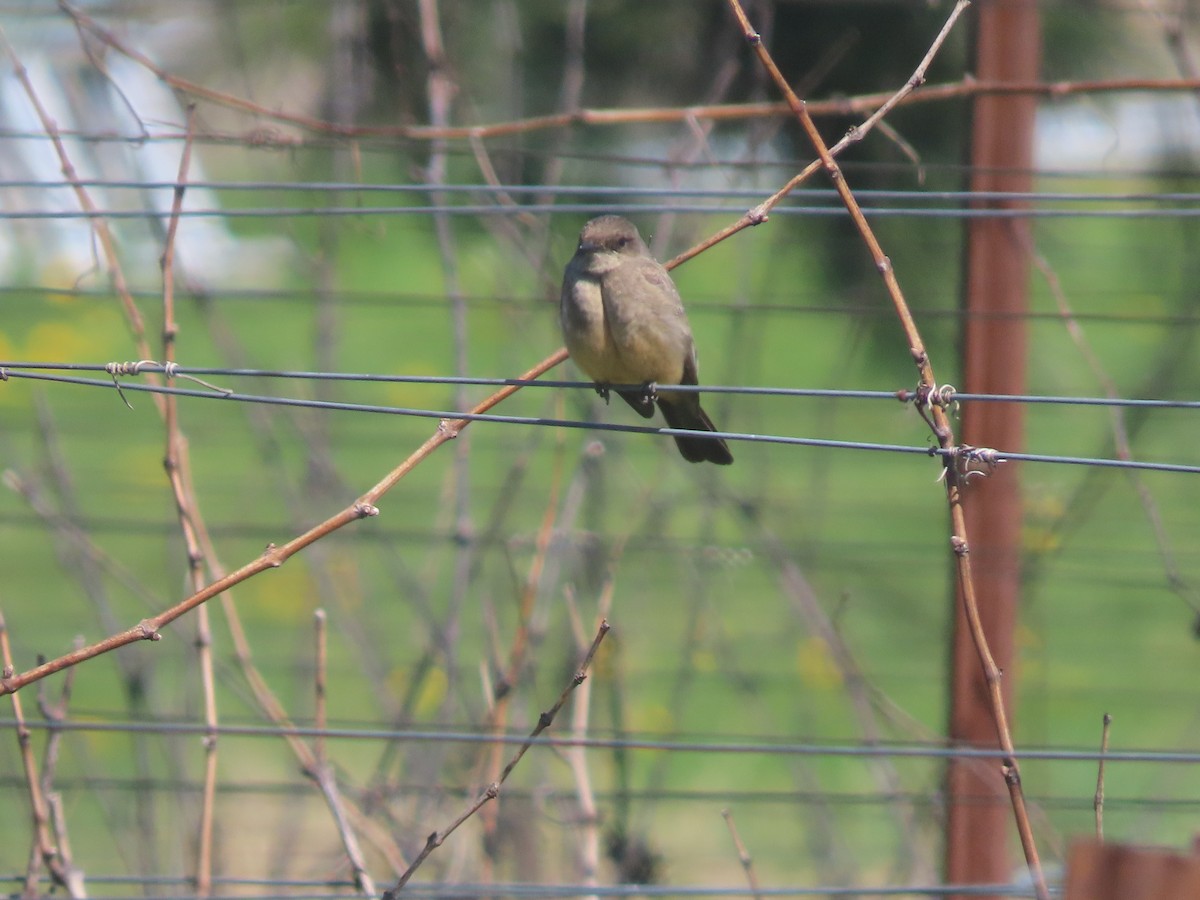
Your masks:
M974 74L982 80L1036 82L1040 22L1030 0L983 0L977 7ZM1032 96L983 96L974 101L971 127L971 190L1032 190ZM1020 206L980 202L978 206ZM1025 392L1028 253L1027 220L973 218L967 223L964 389L988 394ZM967 404L961 440L974 446L1018 450L1024 415L1016 404ZM1001 466L972 479L965 512L984 631L1006 673L1004 702L1012 710L1013 634L1020 592L1021 498L1016 469ZM995 748L988 686L955 596L949 733L960 746ZM1012 720L1012 716L1009 716ZM953 883L1003 883L1013 871L1008 852L1014 833L1012 808L998 761L950 762L947 774L946 877Z

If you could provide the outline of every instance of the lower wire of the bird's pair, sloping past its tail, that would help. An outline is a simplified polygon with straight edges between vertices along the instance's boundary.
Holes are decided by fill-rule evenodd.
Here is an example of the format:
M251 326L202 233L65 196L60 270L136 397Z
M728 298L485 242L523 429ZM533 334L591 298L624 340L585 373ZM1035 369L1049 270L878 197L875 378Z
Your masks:
M700 437L707 439L739 440L758 444L787 444L792 446L811 446L829 450L863 450L871 452L893 452L922 456L940 456L943 458L959 455L964 450L976 450L976 448L950 448L940 446L912 446L910 444L886 444L864 440L834 440L830 438L802 438L787 434L757 434L754 432L737 431L691 431L688 428L656 428L643 425L620 425L618 422L589 422L577 419L550 419L546 416L527 415L497 415L494 413L458 413L446 409L420 409L415 407L391 407L373 403L344 403L329 400L305 400L299 397L276 397L260 394L239 394L222 389L196 390L191 388L172 388L166 385L138 384L126 382L115 384L95 378L77 378L72 376L52 376L41 372L0 371L2 378L22 378L28 380L54 382L59 384L74 384L86 388L104 388L116 391L133 391L144 394L170 394L180 397L197 397L200 400L222 400L236 403L260 403L264 406L295 407L304 409L329 409L350 413L374 413L382 415L403 415L419 419L461 420L496 422L502 425L534 425L557 428L583 428L588 431L611 431L628 434L666 434L670 437ZM578 384L578 383L574 383ZM664 390L671 390L664 388ZM991 462L1042 462L1064 466L1088 466L1115 469L1140 469L1148 472L1171 472L1182 474L1200 474L1200 466L1188 463L1147 462L1142 460L1111 460L1091 456L1058 456L1054 454L1027 454L996 450L990 454ZM970 460L968 460L970 461ZM986 462L980 460L980 462ZM968 473L974 474L974 473Z

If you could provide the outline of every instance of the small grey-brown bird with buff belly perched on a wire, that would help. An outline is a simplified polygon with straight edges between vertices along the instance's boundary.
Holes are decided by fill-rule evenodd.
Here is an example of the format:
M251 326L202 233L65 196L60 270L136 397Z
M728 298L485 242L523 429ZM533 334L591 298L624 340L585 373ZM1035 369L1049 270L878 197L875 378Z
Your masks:
M698 384L696 343L674 282L632 222L600 216L583 226L563 274L559 319L566 350L605 400L611 384L641 384L641 390L617 391L641 415L654 415L658 401L670 427L716 431L698 394L655 390ZM733 462L720 438L674 439L688 462Z

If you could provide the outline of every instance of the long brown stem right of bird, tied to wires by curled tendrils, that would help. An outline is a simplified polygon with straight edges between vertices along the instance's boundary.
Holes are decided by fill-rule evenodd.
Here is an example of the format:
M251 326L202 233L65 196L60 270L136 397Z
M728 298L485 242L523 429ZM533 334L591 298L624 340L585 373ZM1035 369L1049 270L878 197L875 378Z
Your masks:
M875 232L868 223L866 217L863 215L863 211L858 205L858 200L854 198L850 185L846 182L845 175L830 155L829 148L826 145L821 133L817 131L804 101L796 95L791 85L787 83L787 79L785 79L782 73L779 71L775 61L770 56L770 53L763 46L762 38L750 24L750 19L742 8L740 0L728 0L728 2L733 10L733 14L737 17L738 23L742 26L748 43L758 56L763 68L766 68L770 74L772 80L782 92L788 107L796 114L800 127L804 130L810 143L816 150L817 156L821 157L822 168L826 170L826 174L833 182L834 188L838 191L838 196L846 206L846 211L850 214L856 230L862 238L863 244L866 246L868 252L871 254L876 270L883 278L883 284L887 288L896 316L900 319L901 328L904 329L905 336L908 341L910 353L917 365L922 389L925 391L932 391L937 385L937 382L934 378L932 362L925 350L924 341L922 340L920 331L912 317L912 312L908 308L908 304L905 300L900 283L896 280L895 271L892 268L892 262L884 254L882 246L880 246L880 242L875 236ZM966 0L959 0L955 5L952 19L956 17L962 8L966 7ZM946 32L943 30L943 36L944 34ZM955 448L954 430L950 426L946 410L938 404L931 404L930 419L928 421L930 421L938 446L941 446L942 450L952 451ZM1037 844L1033 840L1033 830L1030 826L1030 817L1025 805L1025 792L1021 787L1020 768L1016 761L1016 751L1013 745L1012 730L1008 725L1008 714L1004 709L1004 700L1001 690L1001 680L1003 676L991 654L991 648L988 644L988 636L984 634L983 624L979 617L974 578L971 569L971 545L967 540L966 518L962 509L961 475L953 464L950 456L946 456L944 460L946 476L943 480L946 484L946 497L950 510L950 547L954 551L956 578L960 596L962 598L964 612L966 613L967 624L971 629L971 636L976 646L976 652L979 654L979 665L982 666L984 677L988 682L988 694L991 703L992 719L996 724L996 734L1000 745L1004 751L1002 772L1004 775L1004 782L1009 788L1009 798L1012 800L1013 814L1016 821L1016 830L1021 840L1021 848L1025 852L1025 860L1028 865L1030 875L1033 880L1038 899L1049 900L1050 894L1045 884L1045 876L1042 872L1042 862L1038 857Z

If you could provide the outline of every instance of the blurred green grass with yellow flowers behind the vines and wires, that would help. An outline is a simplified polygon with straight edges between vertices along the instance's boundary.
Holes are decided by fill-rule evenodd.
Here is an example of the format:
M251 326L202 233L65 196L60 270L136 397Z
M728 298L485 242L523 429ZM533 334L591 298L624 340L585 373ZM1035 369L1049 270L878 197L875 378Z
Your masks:
M229 199L252 202L241 194ZM700 218L689 224L703 233L719 222ZM214 337L224 334L244 354L238 365L314 367L314 332L324 314L336 323L337 370L450 372L452 323L428 220L364 214L340 221L337 256L330 260L334 300L324 313L314 296L314 277L305 275L306 266L316 271L328 252L313 226L311 221L289 226L301 259L292 278L294 293L181 299L179 360L230 364L228 338ZM470 298L470 374L512 376L558 347L554 307L546 296L554 290L554 272L570 254L577 226L575 217L556 217L552 263L539 276L478 226L455 222L462 289ZM838 289L823 284L827 268L814 256L823 246L814 236L822 227L820 221L776 217L677 272L701 348L703 380L880 390L912 385L907 353L869 266L863 266L863 283L851 288L850 300L845 284ZM886 220L883 230L892 233L888 252L918 319L929 324L938 374L953 380L956 346L954 319L947 313L956 292L958 235L950 228L931 228L918 240L902 242L894 220ZM1190 222L1056 220L1039 223L1037 239L1075 311L1086 317L1087 336L1122 394L1195 396L1200 372L1194 325L1159 324L1189 310L1187 271L1171 260L1180 259L1194 240ZM854 314L830 311L844 300ZM739 311L739 304L746 310ZM1040 284L1033 306L1037 312L1054 308ZM145 296L140 307L154 336L160 305ZM1099 392L1061 322L1034 319L1030 335L1031 392ZM10 360L103 362L132 356L119 306L109 296L10 295L2 349ZM1156 371L1163 362L1169 371ZM245 390L313 396L318 389L271 382ZM326 398L366 403L439 409L454 403L449 389L434 386L337 384L320 390ZM475 398L485 392L468 390ZM162 474L162 426L148 396L131 394L130 400L132 412L110 390L11 380L0 391L6 467L36 484L43 499L53 498L38 434L42 403L88 533L143 586L146 596L139 598L112 578L106 581L113 616L122 626L186 593L181 540ZM899 403L713 396L708 404L720 426L734 431L917 446L928 440L917 416ZM403 416L258 410L216 400L184 400L180 412L197 497L229 568L348 504L436 424ZM530 389L499 412L632 419L626 409L605 408L586 391ZM1031 451L1111 452L1108 413L1102 409L1033 406L1027 414ZM1145 416L1134 455L1196 462L1188 415ZM454 540L451 504L456 445L434 454L388 494L378 518L350 526L314 548L316 554L301 554L235 592L256 660L298 721L312 714L310 623L318 605L330 613L334 724L383 725L397 715L406 697L410 727L418 730L469 728L480 721L479 667L494 641L488 618L498 620L498 640L506 646L546 505L557 502L562 511L575 486L587 493L577 517L556 524L551 559L557 577L540 594L535 650L520 686L515 728L532 726L536 712L557 696L571 665L564 587L574 586L582 614L590 617L600 587L596 572L606 568L605 554L623 544L614 569L614 630L594 677L593 734L830 745L862 740L863 722L828 648L780 588L763 539L767 533L800 566L854 653L871 685L881 736L911 743L936 739L942 732L950 596L946 511L934 462L923 456L739 443L737 464L716 472L680 463L668 440L646 436L493 424L472 426L468 434L469 515L478 536L485 534L514 479L520 480L500 514L494 540L474 551L479 570L457 601L452 658L438 656L419 676L432 623L456 602L452 572L461 552ZM584 476L581 448L589 440L601 440L605 452ZM316 479L312 467L319 461L311 448L325 444L332 478ZM1092 748L1099 739L1100 716L1108 712L1115 719L1114 749L1194 749L1198 722L1187 686L1196 665L1192 613L1169 589L1153 529L1130 479L1118 472L1037 464L1024 466L1021 479L1028 578L1020 661L1009 674L1019 692L1018 745ZM1194 478L1142 474L1138 479L1154 498L1181 575L1193 581L1200 566L1188 539L1196 524ZM62 544L53 528L12 491L0 498L2 608L17 667L24 668L38 654L64 652L76 635L95 640L104 629L59 557ZM168 629L161 643L122 650L120 662L106 658L84 666L71 718L200 721L193 618ZM233 671L218 613L215 622L221 720L260 721ZM144 697L130 698L119 678L121 665L142 672ZM32 691L23 696L31 706ZM556 726L560 728L565 725ZM218 853L230 870L246 865L245 859L257 852L270 853L272 840L290 834L284 823L293 816L295 827L320 834L322 814L313 799L284 802L272 796L286 785L304 794L295 787L295 763L278 742L227 737L220 746L229 793L218 802L221 834L228 835ZM382 751L379 742L360 740L335 742L331 752L349 782L366 784ZM433 770L437 785L446 791L469 787L476 751L449 745L443 752L446 762ZM593 750L589 757L608 821L618 803L613 792L624 785L634 797L630 826L661 854L665 877L676 883L736 877L736 859L719 816L722 808L734 810L768 880L836 872L886 878L910 871L907 854L914 848L928 852L936 842L940 767L932 761L896 761L905 796L889 798L880 794L881 785L863 760L635 750L619 775L612 751ZM421 754L408 749L403 758L413 772L392 775L400 782L420 784L420 773L427 769ZM0 760L10 774L7 802L14 803L18 767L11 744L0 749ZM122 829L134 827L126 821L133 815L128 798L119 787L95 785L97 779L115 785L140 778L155 782L145 793L156 810L155 833L162 846L155 852L163 854L162 865L169 869L168 860L186 860L200 767L194 734L68 736L59 780L79 785L64 788L76 822L77 857L96 860L114 852L127 857ZM570 790L566 768L554 762L552 752L535 750L514 776L514 803L522 790L536 792L547 781L558 791ZM1030 761L1025 781L1039 809L1039 839L1054 859L1066 835L1091 828L1094 766ZM1111 836L1181 844L1190 834L1189 816L1172 812L1171 805L1200 800L1186 767L1112 764L1108 791ZM182 810L191 816L180 815L174 797L184 798ZM307 812L301 815L301 809ZM914 816L918 833L904 834L901 811ZM251 823L272 838L260 846L244 844ZM551 816L538 829L546 856L570 854L568 826ZM330 836L324 840L328 844ZM470 839L464 834L462 840ZM808 860L799 870L798 848ZM19 844L12 846L0 854L0 868L18 870L24 852ZM875 862L864 868L864 857ZM319 870L320 862L295 865ZM126 858L115 870L124 866L134 863ZM91 863L92 870L102 868Z

